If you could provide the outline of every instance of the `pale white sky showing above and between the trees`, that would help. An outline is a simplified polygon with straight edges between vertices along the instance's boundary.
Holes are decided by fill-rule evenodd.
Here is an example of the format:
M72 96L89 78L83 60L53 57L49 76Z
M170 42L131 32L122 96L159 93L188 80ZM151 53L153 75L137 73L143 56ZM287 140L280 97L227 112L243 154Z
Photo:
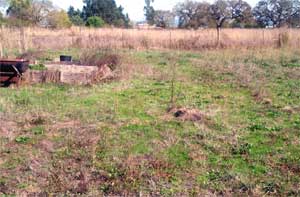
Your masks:
M155 0L154 8L162 10L171 10L174 5L178 2L183 2L184 0ZM213 0L207 0L212 2ZM246 0L252 6L254 6L258 0ZM82 8L82 0L53 0L54 4L58 7L67 9L70 5L76 8ZM144 20L144 0L116 0L117 4L122 5L125 8L125 12L129 14L131 20L141 21Z

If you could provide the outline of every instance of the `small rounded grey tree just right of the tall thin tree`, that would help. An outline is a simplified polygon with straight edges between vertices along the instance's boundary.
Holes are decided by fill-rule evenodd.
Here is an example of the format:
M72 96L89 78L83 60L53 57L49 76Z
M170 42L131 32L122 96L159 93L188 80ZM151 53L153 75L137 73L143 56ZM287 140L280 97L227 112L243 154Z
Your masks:
M157 10L154 15L154 24L157 27L169 28L175 23L175 16L171 11Z

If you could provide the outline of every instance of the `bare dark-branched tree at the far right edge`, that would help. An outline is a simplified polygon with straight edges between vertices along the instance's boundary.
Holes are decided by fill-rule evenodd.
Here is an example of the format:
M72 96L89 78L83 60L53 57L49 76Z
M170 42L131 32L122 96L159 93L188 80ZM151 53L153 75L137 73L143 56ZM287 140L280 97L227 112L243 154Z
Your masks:
M295 22L300 15L300 2L299 0L261 0L253 9L253 15L261 27L293 26L293 21Z

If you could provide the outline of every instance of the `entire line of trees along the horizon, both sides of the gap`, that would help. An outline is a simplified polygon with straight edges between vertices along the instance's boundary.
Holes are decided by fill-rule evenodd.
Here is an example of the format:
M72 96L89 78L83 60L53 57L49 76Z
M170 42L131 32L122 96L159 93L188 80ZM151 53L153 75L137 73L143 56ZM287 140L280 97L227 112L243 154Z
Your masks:
M145 0L145 17L160 28L265 28L300 27L300 0L260 0L251 7L244 0L214 3L186 0L173 10L155 10ZM82 9L59 9L51 0L0 0L0 24L66 28L72 25L131 27L128 14L115 0L83 0Z

